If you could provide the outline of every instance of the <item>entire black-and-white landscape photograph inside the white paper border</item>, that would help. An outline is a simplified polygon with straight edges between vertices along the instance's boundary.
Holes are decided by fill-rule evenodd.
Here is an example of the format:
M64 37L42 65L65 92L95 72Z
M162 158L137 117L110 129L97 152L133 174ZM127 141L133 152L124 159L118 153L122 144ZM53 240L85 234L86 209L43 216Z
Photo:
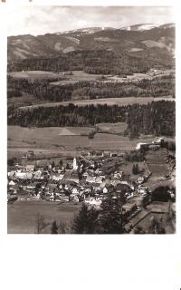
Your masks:
M9 11L8 234L176 233L175 28L172 6Z

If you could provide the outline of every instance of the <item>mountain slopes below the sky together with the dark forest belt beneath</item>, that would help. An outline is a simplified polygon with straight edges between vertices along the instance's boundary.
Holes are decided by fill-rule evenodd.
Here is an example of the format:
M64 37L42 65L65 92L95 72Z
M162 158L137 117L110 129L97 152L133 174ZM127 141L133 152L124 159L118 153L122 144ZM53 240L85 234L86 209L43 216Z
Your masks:
M144 27L144 25L143 25ZM77 30L60 34L8 37L8 71L144 73L175 65L175 27L150 30Z

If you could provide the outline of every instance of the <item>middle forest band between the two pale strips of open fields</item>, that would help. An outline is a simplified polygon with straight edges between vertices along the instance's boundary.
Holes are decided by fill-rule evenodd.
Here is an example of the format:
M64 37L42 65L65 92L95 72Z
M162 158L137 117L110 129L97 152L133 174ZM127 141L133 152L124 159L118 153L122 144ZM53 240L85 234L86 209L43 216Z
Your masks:
M139 82L76 82L64 85L51 84L52 80L7 78L8 97L15 92L27 92L39 101L74 101L115 97L175 97L175 76L167 75ZM56 82L56 80L53 80Z

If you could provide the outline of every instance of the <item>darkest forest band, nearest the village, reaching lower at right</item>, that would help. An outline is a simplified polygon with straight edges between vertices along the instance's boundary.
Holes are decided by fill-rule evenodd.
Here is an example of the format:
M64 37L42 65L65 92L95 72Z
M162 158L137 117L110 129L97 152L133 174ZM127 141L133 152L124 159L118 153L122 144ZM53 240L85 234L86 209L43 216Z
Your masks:
M11 110L10 110L11 109ZM140 134L175 136L175 102L151 102L148 105L86 105L38 107L25 110L10 108L8 124L23 127L87 126L100 122L126 121L130 138Z

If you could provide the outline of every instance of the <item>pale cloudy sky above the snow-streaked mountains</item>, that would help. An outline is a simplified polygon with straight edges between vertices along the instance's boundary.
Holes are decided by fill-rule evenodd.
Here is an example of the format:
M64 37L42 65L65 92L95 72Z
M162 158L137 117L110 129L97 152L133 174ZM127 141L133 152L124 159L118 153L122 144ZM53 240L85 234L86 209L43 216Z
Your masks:
M174 23L171 6L16 6L7 12L7 34L47 34L86 27Z

